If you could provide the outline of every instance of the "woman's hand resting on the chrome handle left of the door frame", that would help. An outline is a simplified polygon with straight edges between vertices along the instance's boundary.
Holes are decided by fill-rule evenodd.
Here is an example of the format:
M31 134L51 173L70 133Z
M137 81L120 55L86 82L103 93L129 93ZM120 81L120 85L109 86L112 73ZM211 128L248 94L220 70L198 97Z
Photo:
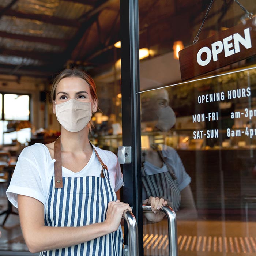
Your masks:
M129 206L129 204L120 202L120 200L111 201L108 203L104 223L108 225L109 233L112 233L118 229L125 210L132 211L132 208Z

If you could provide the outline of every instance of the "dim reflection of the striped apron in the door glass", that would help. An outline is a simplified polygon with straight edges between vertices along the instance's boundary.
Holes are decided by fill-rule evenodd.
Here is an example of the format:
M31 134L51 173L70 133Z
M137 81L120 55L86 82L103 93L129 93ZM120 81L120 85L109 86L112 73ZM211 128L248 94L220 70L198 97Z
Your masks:
M162 172L153 175L146 175L142 167L142 184L146 189L147 198L162 197L172 202L174 211L180 207L180 190L178 189L177 180L173 180L170 172Z

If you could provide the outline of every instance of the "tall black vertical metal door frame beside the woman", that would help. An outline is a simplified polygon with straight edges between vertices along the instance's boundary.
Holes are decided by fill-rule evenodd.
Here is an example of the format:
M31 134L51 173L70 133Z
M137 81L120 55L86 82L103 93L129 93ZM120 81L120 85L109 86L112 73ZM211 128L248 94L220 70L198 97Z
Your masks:
M138 6L138 0L120 0L123 145L132 148L132 162L123 165L123 199L137 220L139 255L143 255ZM126 234L127 230L125 241Z

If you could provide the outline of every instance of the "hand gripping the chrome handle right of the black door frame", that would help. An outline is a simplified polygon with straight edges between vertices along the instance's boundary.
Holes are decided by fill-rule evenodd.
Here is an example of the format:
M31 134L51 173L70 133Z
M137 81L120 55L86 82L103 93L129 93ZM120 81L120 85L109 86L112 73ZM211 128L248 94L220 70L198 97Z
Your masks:
M144 214L148 221L159 222L165 216L163 212L158 211L163 206L166 206L168 204L168 202L165 199L150 196L148 199L143 200L142 203L151 205L151 209L153 212L145 212Z

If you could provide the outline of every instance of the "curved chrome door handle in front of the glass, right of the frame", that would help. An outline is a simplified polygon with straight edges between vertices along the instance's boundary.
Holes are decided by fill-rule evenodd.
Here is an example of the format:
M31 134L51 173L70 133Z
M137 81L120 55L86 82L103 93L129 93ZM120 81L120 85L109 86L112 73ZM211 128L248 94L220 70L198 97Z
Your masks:
M145 204L142 205L142 210L152 212L151 206ZM159 211L164 212L168 220L169 255L178 256L176 214L170 206L163 206Z

